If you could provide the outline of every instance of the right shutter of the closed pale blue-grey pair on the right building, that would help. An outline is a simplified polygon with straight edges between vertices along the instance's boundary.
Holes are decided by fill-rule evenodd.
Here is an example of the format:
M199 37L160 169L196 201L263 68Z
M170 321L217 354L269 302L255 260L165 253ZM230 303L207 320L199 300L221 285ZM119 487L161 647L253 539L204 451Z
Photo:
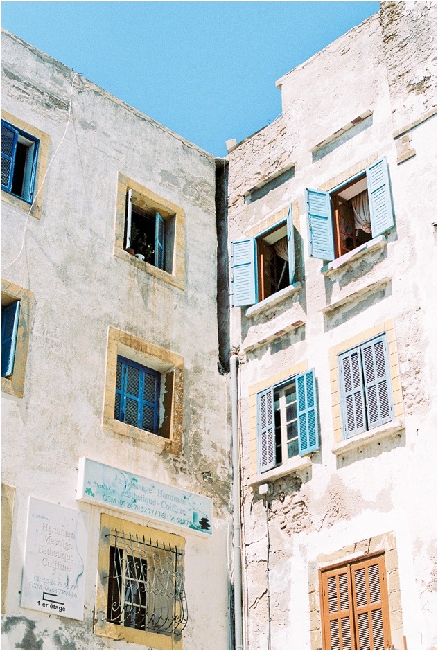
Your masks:
M392 420L392 389L385 335L360 347L365 379L368 429Z

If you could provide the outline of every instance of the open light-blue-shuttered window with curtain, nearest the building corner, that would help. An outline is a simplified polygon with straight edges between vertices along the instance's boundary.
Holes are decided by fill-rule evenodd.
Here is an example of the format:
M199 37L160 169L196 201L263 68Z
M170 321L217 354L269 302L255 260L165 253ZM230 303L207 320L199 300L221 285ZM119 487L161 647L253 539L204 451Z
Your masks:
M292 206L286 222L257 238L231 242L233 305L254 305L292 285L295 245Z

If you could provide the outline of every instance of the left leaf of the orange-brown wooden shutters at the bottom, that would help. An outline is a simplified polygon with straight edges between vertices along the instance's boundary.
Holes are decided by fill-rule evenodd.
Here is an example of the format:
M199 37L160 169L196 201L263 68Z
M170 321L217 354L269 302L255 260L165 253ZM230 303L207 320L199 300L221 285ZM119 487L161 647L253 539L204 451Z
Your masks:
M322 572L324 649L354 649L353 600L349 567Z

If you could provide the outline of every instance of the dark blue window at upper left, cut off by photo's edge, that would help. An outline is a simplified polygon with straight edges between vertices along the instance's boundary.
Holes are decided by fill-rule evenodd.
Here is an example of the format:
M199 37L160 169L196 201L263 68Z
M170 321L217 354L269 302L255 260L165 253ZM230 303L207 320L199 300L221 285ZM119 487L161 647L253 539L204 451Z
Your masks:
M33 202L40 141L1 121L1 189Z

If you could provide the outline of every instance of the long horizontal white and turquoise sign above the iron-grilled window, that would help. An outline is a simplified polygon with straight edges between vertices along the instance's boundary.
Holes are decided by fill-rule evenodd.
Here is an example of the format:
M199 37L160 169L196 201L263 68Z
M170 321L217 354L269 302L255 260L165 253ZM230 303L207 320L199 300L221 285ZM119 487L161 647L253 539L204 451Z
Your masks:
M79 460L78 500L211 535L209 497L91 459Z

